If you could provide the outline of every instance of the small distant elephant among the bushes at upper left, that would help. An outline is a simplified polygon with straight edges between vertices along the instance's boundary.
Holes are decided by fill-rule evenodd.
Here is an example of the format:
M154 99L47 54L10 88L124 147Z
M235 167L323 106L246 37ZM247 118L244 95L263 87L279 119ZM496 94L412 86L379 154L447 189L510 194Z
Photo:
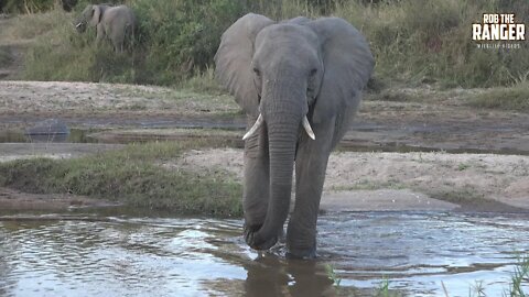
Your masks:
M114 50L121 53L125 50L125 40L133 40L136 18L127 6L87 6L77 19L75 26L79 33L83 33L87 25L96 28L97 44L108 37L114 44Z

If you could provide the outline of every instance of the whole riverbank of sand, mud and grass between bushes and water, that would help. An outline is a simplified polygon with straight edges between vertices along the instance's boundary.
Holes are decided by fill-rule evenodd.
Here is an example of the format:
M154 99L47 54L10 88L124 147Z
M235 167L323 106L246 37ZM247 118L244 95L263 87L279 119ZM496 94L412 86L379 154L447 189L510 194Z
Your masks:
M0 186L176 213L240 216L245 118L229 96L56 81L0 81L0 87L6 103L0 134L23 139L29 127L58 119L86 131L82 139L100 142L0 144L0 160L31 158L0 164ZM367 94L331 157L322 208L529 208L529 114L468 103L488 91L423 87ZM158 141L169 142L149 143ZM120 144L130 142L147 144ZM217 186L225 199L210 197L207 187Z

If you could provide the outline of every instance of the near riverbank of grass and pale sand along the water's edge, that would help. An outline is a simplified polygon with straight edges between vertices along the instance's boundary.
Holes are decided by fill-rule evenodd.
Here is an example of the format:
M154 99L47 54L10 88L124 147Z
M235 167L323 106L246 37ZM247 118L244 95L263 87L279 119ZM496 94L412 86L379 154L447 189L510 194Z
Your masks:
M58 200L43 209L65 209L88 196L174 213L241 216L240 148L210 147L207 141L118 145L110 151L50 144L34 145L28 154L28 145L34 144L0 144L1 152L11 152L3 157L10 162L0 163L0 186L17 189L17 195L2 191L8 193L0 199L4 208L17 209L13 199L20 199L18 209L35 209L42 197L56 194ZM335 152L321 209L526 212L528 193L529 156Z

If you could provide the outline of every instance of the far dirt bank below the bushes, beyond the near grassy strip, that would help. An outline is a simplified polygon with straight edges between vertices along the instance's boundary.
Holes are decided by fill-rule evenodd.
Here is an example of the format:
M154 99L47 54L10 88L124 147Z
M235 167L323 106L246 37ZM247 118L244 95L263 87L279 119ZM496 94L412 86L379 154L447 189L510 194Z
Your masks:
M367 95L342 145L363 151L529 154L529 114L465 106L465 96L483 91L419 88ZM80 129L245 128L229 96L162 87L0 81L0 130L23 130L50 118Z

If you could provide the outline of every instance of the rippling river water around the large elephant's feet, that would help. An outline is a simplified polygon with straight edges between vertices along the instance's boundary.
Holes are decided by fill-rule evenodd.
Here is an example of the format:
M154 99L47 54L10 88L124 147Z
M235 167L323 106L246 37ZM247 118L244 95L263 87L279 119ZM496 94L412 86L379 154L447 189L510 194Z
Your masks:
M249 250L239 220L29 219L0 219L1 296L370 296L385 278L403 296L501 296L529 251L520 215L327 213L315 262Z

